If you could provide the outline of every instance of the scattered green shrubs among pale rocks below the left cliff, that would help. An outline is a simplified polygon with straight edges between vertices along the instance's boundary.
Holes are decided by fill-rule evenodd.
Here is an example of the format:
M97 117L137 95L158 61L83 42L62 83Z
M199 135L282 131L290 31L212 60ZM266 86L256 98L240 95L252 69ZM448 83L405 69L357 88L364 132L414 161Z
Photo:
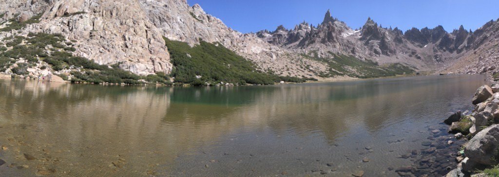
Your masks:
M50 66L63 79L72 76L71 82L142 84L144 82L139 80L144 80L153 84L171 84L164 73L143 77L119 69L118 65L99 65L87 58L73 56L76 49L68 46L72 43L60 34L29 33L27 37L14 36L3 41L4 45L0 43L0 72L11 68L16 75L28 75L27 68ZM15 67L11 67L14 64Z

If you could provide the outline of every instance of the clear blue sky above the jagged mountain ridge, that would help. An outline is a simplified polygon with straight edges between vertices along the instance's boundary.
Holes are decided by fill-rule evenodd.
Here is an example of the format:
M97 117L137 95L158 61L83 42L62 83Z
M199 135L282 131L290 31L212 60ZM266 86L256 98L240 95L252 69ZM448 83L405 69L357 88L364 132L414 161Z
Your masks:
M327 9L333 17L359 28L371 17L383 27L475 30L499 18L499 0L187 0L240 32L294 28L303 20L317 25Z

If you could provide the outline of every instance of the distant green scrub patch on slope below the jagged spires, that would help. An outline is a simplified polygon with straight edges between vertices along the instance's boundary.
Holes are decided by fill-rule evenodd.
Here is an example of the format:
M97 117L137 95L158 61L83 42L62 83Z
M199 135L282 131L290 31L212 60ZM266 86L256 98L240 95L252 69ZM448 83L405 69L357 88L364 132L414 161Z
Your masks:
M317 73L318 76L329 78L334 76L349 76L354 78L378 78L413 73L414 70L399 63L380 66L370 60L360 60L353 56L329 53L332 58L318 57L316 52L303 54L305 58L324 62L329 66L329 72Z

